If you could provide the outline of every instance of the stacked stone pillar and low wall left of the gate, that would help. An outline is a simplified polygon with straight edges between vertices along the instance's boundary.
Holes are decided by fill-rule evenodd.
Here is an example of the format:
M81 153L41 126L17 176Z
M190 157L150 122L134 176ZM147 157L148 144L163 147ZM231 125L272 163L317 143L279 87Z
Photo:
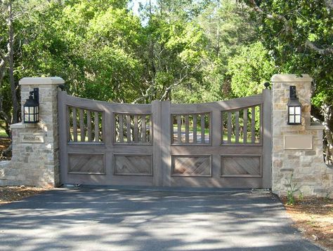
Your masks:
M57 90L60 83L64 81L58 77L24 78L20 81L22 105L29 92L39 88L39 123L11 125L13 157L0 165L0 186L59 184ZM22 143L20 135L23 134L44 135L44 143Z

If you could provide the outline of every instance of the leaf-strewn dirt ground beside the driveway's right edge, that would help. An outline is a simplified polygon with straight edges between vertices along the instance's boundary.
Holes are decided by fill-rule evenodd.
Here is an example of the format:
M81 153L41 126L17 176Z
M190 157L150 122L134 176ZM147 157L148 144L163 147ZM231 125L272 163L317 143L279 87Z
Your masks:
M303 198L294 205L287 205L287 198L281 198L294 227L303 236L327 250L333 250L333 199Z

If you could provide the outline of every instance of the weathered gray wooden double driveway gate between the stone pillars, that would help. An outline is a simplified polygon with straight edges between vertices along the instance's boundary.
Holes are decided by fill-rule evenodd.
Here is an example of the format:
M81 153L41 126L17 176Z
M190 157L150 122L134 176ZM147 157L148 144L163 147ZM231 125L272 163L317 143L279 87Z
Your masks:
M271 95L117 104L58 93L62 184L270 188Z

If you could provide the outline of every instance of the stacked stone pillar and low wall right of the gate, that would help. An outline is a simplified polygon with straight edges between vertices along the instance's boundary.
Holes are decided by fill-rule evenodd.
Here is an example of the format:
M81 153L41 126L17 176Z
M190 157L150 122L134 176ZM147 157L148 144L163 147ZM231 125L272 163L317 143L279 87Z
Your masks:
M273 82L273 160L272 190L286 194L287 180L293 174L292 184L305 196L332 196L333 170L325 165L322 156L322 126L311 123L311 82L307 74L277 74ZM287 125L289 86L296 86L296 95L302 104L301 126ZM285 149L285 135L312 135L312 149Z

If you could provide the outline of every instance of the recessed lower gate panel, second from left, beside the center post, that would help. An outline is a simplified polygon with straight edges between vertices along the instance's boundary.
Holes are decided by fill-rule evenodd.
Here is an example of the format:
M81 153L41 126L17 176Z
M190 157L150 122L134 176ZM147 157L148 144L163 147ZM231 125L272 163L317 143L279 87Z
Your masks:
M115 175L152 175L151 155L114 155Z

